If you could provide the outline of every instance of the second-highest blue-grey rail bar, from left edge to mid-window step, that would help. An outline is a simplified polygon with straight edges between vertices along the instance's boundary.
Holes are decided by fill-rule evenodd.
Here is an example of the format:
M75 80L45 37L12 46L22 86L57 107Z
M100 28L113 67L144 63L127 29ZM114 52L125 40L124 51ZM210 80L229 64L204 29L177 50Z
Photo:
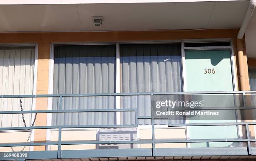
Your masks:
M20 113L63 113L63 112L136 112L136 108L129 109L71 109L71 110L26 110L26 111L0 111L0 114L20 114Z

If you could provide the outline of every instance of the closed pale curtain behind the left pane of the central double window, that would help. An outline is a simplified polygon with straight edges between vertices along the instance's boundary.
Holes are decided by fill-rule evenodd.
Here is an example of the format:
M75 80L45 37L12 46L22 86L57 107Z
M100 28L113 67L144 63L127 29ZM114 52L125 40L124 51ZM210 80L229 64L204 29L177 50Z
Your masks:
M54 94L115 93L115 45L55 46ZM59 109L53 99L53 110ZM62 109L111 109L115 97L64 97ZM113 125L115 112L52 114L52 125Z

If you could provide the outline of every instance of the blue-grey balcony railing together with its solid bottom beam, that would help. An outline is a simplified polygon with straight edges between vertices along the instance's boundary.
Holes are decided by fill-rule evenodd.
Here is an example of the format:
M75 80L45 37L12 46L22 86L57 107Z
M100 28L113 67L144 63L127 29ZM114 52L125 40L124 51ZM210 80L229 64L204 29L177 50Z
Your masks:
M248 96L256 94L256 91L222 91L222 92L152 92L152 93L110 93L110 94L60 94L60 95L2 95L0 98L38 98L38 97L59 97L62 102L64 97L100 97L100 96L141 96L149 95L152 99L154 95L241 95L243 109L256 109L248 104ZM152 101L152 100L151 100ZM251 103L250 103L251 104ZM152 104L151 104L152 106ZM139 116L137 108L115 108L115 109L72 109L65 110L60 103L59 110L26 110L26 111L1 111L0 115L8 114L25 114L25 113L66 113L66 112L134 112L135 124L132 125L51 125L51 126L34 126L34 127L5 127L0 131L8 130L35 130L35 129L57 129L58 141L45 141L40 143L2 143L0 147L14 146L57 146L56 151L26 151L28 157L25 159L54 159L54 158L95 158L95 157L138 157L138 156L251 156L256 155L256 147L251 147L251 143L256 139L250 136L249 125L256 125L252 120L248 122L219 122L219 123L168 123L168 127L194 127L194 126L241 126L244 128L246 136L241 138L210 138L210 139L156 139L155 137L155 116L151 107L151 116ZM212 108L218 109L218 108ZM222 108L222 109L235 109ZM137 128L138 119L151 119L151 136L149 140L137 141L62 141L61 135L63 129L81 129L81 128ZM169 120L168 120L169 121ZM172 135L172 134L170 134ZM236 142L246 143L245 146L239 147L199 147L199 148L156 148L160 143L215 143L215 142ZM88 144L151 144L151 148L129 148L129 149L91 149L91 150L62 150L63 145L88 145ZM0 160L14 160L15 157L3 158L4 153L0 152ZM24 153L24 152L23 152Z

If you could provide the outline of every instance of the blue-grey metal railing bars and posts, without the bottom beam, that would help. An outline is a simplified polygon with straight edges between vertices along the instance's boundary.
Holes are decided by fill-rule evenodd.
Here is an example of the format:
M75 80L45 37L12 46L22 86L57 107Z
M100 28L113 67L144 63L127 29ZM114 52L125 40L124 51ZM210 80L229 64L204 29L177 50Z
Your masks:
M101 96L140 96L148 95L152 97L154 95L192 95L192 94L241 94L243 95L243 105L246 107L245 95L256 94L256 91L221 91L221 92L151 92L151 93L110 93L110 94L58 94L58 95L1 95L1 98L39 98L39 97L59 97L59 102L62 102L63 97L101 97ZM41 143L2 143L0 147L13 147L13 146L58 146L57 158L61 158L61 146L62 145L79 145L79 144L134 144L134 143L151 143L152 144L152 156L156 156L156 144L157 143L202 143L202 142L243 142L247 144L247 155L252 155L251 142L256 142L256 139L250 137L249 125L256 125L254 122L236 122L236 123L187 123L187 124L169 124L171 127L181 126L224 126L224 125L241 125L245 127L246 138L233 138L233 139L184 139L184 140L157 140L155 138L155 119L152 115L153 110L151 107L151 116L138 116L136 108L130 109L72 109L65 110L62 107L62 103L59 104L59 110L24 110L24 111L1 111L0 115L8 114L25 114L25 113L65 113L65 112L134 112L135 124L132 125L52 125L52 126L34 126L34 127L6 127L0 128L0 131L4 130L33 130L33 129L58 129L58 141L53 142L41 142ZM152 104L151 104L152 106ZM249 107L254 109L255 107ZM62 129L65 128L124 128L124 127L138 127L138 119L151 119L151 140L145 141L61 141Z

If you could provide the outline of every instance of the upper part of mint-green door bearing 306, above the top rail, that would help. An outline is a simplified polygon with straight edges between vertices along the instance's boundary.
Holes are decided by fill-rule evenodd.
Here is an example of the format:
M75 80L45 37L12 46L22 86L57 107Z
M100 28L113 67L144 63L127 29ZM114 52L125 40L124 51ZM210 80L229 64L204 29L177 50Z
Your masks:
M230 50L186 51L187 91L233 91Z

